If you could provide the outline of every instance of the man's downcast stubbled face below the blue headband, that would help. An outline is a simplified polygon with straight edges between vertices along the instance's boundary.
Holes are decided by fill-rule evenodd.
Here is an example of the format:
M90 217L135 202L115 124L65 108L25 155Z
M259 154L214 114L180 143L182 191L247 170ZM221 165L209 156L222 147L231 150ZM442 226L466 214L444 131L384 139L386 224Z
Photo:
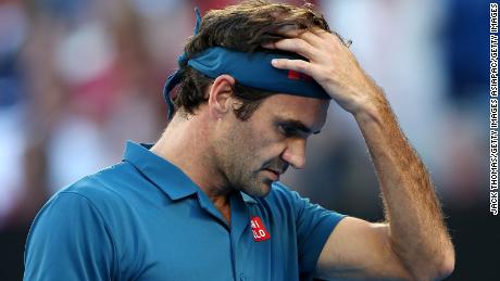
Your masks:
M216 142L221 171L229 184L265 196L289 165L305 165L305 142L324 126L329 101L274 94L246 122L232 116Z

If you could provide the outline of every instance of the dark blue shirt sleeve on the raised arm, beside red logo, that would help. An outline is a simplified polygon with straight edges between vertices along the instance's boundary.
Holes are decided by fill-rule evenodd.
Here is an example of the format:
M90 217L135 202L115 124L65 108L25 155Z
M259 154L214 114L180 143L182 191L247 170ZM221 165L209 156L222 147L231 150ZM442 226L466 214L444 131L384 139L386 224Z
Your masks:
M296 208L297 244L301 278L310 277L317 264L320 254L332 231L346 217L333 210L312 204L309 199L291 192Z

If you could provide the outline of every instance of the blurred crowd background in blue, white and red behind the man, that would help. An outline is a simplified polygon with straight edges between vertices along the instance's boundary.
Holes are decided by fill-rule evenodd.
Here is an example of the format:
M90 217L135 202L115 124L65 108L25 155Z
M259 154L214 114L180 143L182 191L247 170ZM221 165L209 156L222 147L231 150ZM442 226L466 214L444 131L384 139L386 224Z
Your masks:
M0 280L21 280L36 212L165 126L165 77L203 12L238 1L0 0ZM303 1L288 1L301 4ZM382 86L436 183L453 242L449 280L498 280L489 214L489 2L316 0ZM382 202L363 138L333 104L308 165L284 182L372 221ZM495 225L497 228L495 228ZM495 273L495 271L497 273Z

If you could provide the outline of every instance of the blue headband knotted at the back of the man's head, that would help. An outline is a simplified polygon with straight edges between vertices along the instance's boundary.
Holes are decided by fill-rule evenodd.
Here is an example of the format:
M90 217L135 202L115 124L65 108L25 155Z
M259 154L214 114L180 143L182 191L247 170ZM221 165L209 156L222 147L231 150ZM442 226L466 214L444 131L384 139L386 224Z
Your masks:
M197 11L197 25L195 35L199 29L199 10ZM271 65L273 59L304 60L295 53L273 52L237 52L222 47L204 50L195 58L187 60L183 54L178 59L179 65L191 66L210 78L227 74L233 76L242 86L260 89L263 91L280 92L293 95L309 97L329 100L330 97L311 77L293 71L278 69ZM172 117L174 105L170 91L180 82L178 69L168 76L164 88L164 98L168 104L168 119Z

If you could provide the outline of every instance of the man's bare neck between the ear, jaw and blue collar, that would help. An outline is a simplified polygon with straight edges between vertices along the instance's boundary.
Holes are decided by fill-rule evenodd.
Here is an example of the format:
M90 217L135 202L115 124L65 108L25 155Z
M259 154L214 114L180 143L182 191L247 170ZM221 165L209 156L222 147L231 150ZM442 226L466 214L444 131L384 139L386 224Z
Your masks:
M177 115L151 151L179 167L224 214L230 188L214 162L208 118L202 113L188 119Z

